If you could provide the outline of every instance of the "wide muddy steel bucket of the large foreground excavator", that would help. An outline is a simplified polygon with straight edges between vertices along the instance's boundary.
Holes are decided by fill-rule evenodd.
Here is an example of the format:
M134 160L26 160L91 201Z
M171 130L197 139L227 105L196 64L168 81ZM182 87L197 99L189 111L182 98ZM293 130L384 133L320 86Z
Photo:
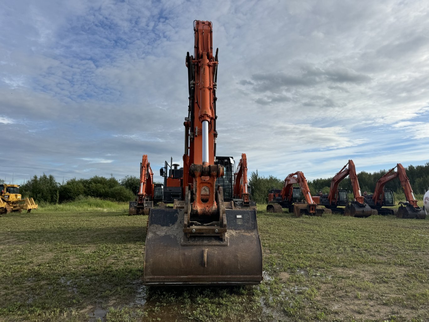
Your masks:
M147 285L245 285L262 281L256 210L225 210L225 240L183 233L183 209L152 208L143 282Z

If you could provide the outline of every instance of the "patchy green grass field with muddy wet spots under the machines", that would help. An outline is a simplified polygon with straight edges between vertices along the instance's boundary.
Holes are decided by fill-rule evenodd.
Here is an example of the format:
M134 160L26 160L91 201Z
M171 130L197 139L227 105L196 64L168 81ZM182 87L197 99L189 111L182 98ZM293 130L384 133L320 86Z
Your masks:
M258 287L145 288L146 216L81 200L0 217L1 321L428 321L429 220L258 210Z

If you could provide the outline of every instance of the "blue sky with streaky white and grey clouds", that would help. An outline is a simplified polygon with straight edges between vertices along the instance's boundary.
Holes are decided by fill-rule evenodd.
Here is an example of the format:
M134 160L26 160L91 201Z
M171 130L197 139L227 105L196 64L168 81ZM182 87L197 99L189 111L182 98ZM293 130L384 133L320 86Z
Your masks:
M0 178L181 163L194 19L219 47L221 155L307 179L429 161L427 1L4 1Z

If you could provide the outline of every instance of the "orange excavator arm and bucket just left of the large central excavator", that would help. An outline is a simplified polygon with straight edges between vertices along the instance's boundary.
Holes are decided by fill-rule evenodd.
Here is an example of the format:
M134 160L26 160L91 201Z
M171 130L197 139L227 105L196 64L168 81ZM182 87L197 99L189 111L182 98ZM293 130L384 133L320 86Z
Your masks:
M148 161L148 155L143 155L140 163L140 185L136 201L130 201L129 215L149 214L154 207L154 173Z

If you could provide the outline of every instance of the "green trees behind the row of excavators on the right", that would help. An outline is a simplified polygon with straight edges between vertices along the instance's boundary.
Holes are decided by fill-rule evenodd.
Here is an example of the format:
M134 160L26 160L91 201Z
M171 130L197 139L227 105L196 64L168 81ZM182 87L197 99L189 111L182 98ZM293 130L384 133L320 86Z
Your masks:
M338 169L339 170L339 169ZM388 169L390 170L390 169ZM369 194L374 192L375 184L381 176L387 173L388 170L380 170L373 173L361 171L357 173L361 191L367 191ZM408 179L410 179L411 187L415 194L424 194L429 188L429 162L425 165L410 165L406 169ZM288 173L285 174L285 177ZM305 173L304 173L305 174ZM329 192L332 177L308 180L308 188L310 188L311 195L317 195L321 190L323 193ZM259 203L268 202L268 191L276 188L281 189L284 185L284 179L275 176L260 176L258 170L252 172L249 178L249 186L251 187L251 194L253 200ZM352 190L350 178L341 181L339 188ZM384 186L384 188L393 189L398 194L403 194L399 179L393 179Z

